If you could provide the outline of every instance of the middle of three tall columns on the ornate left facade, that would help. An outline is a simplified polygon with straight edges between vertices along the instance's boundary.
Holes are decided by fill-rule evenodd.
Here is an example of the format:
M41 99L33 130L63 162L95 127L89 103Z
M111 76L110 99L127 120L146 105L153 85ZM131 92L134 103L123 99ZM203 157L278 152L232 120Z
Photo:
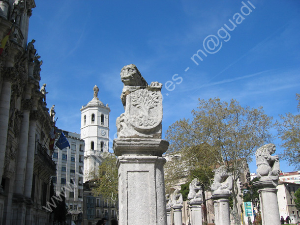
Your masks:
M31 99L23 100L23 118L21 122L19 135L18 158L15 176L16 185L14 191L14 193L18 195L24 195L31 102Z

